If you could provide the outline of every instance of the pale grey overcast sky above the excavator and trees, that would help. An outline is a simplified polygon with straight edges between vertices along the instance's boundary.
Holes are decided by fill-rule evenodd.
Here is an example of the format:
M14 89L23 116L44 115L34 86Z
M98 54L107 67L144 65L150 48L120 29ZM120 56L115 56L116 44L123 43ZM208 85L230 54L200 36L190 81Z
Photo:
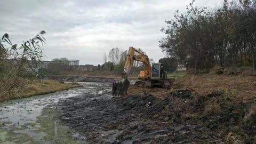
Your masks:
M165 20L175 10L186 10L190 0L0 0L0 35L13 43L46 31L43 60L78 59L80 65L98 65L113 47L141 47L158 62L165 57L158 47ZM214 7L222 0L196 0Z

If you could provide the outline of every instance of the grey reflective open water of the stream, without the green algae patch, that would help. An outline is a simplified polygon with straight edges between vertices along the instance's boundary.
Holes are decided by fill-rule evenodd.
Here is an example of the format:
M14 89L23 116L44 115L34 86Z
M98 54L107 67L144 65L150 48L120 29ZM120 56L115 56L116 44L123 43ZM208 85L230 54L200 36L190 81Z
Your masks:
M14 134L25 133L33 138L34 141L39 141L38 138L44 137L46 134L44 132L35 132L41 128L41 125L35 122L46 106L51 105L50 108L56 109L55 106L59 100L76 97L77 95L101 94L104 91L111 91L108 83L80 84L82 87L0 103L0 143L4 139L3 135L6 136L5 130L12 131ZM102 89L99 89L99 87L102 87ZM31 123L35 124L30 126L29 124ZM25 125L26 128L21 129Z

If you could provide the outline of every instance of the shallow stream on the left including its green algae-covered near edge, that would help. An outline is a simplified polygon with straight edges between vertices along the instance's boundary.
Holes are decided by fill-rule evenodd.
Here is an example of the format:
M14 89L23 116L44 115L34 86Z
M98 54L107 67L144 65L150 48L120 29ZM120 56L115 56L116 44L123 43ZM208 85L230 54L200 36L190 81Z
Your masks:
M101 94L103 91L96 90L105 85L80 84L74 89L0 103L0 143L74 143L73 134L67 134L69 130L55 117L58 101L84 93ZM51 137L54 129L60 131L57 137Z

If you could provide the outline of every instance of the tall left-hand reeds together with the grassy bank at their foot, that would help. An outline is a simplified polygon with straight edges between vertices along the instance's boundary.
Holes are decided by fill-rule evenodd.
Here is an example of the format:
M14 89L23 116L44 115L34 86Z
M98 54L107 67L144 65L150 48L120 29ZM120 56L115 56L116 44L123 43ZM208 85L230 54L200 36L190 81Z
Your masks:
M74 83L40 79L44 71L37 65L43 57L45 31L22 44L12 44L8 34L0 38L0 102L66 90Z

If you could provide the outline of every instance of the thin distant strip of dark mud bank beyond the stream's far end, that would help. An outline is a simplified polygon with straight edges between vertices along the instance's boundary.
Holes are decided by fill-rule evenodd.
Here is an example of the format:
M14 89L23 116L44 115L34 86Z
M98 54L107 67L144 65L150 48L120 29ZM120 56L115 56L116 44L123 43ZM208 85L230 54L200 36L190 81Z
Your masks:
M115 78L106 77L76 77L76 76L48 76L47 79L53 79L63 82L94 82L94 83L112 83Z

